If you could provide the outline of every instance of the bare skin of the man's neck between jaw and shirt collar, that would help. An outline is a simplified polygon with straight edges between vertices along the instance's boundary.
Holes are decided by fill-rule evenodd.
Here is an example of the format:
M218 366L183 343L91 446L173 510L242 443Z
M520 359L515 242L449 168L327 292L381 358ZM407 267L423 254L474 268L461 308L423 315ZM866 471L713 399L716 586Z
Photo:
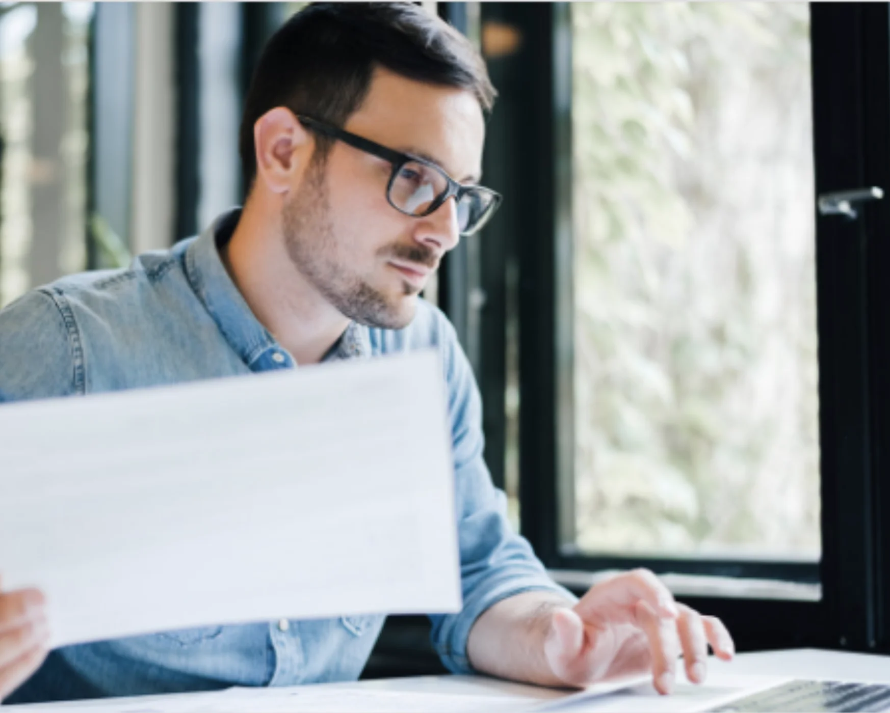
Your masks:
M297 364L317 364L349 320L294 268L277 226L245 206L223 264L256 318ZM268 214L268 213L267 213Z

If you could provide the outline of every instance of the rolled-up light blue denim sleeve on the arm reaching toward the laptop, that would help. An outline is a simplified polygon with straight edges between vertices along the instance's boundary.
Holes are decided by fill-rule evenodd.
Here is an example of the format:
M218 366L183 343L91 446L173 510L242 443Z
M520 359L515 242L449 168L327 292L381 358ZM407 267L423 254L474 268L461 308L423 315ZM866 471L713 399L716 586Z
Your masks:
M464 606L456 614L431 615L433 647L454 673L471 673L466 644L473 624L491 605L533 589L576 601L547 575L530 544L506 517L506 495L491 482L482 459L481 397L470 364L451 325L441 335L449 389L449 415L457 489L457 540Z

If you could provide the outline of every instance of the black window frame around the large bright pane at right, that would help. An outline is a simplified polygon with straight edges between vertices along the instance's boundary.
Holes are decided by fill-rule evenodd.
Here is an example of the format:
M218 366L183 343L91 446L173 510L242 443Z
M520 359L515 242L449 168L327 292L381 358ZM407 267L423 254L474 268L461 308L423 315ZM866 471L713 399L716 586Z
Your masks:
M816 195L890 188L890 20L886 4L811 4ZM886 650L890 645L890 512L885 444L890 419L890 246L866 236L890 227L890 199L861 206L862 220L816 216L820 373L821 562L588 557L560 546L573 521L571 285L571 25L567 4L482 4L487 20L522 44L489 60L500 91L484 172L505 195L489 233L509 225L518 260L520 512L522 534L552 570L646 566L657 573L821 582L820 601L684 597L721 616L740 650L798 645ZM503 111L506 105L506 112ZM496 160L490 160L495 158ZM523 181L509 180L522 168ZM505 181L505 184L499 181ZM484 384L486 374L478 374ZM485 409L503 411L484 398ZM488 455L488 453L487 453ZM494 470L494 469L493 469ZM498 485L502 485L498 483ZM581 589L576 589L580 593Z

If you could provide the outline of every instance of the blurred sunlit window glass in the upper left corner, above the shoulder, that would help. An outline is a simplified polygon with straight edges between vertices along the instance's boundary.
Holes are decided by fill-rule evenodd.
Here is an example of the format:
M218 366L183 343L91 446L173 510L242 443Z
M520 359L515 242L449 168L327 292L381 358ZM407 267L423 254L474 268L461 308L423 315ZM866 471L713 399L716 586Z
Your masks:
M92 14L0 5L0 306L85 267Z

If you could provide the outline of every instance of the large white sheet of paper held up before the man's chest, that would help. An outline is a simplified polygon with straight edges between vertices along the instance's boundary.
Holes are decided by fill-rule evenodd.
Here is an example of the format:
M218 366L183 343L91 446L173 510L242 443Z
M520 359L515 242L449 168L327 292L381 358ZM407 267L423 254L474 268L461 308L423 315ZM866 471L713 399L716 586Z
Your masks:
M53 646L461 606L433 351L0 405L0 575Z

